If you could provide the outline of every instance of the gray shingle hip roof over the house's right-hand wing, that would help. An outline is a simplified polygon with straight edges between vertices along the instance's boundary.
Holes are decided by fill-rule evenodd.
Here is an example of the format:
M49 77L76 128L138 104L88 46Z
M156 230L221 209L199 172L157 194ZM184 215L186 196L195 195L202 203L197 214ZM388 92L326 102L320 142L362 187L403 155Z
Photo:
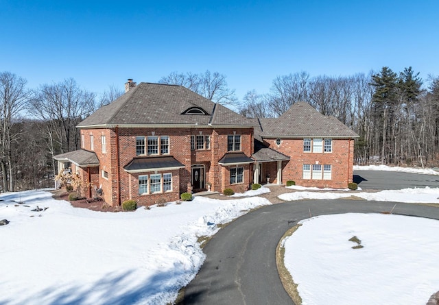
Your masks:
M261 136L357 138L358 135L335 117L325 116L309 103L298 102L277 119L260 119ZM255 132L257 130L255 129Z

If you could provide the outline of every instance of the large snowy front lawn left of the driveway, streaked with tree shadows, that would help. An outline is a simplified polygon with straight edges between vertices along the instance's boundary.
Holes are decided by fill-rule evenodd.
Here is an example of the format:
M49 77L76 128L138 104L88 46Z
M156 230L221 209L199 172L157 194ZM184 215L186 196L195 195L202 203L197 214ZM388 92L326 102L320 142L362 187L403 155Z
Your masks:
M252 197L195 197L135 212L94 212L47 191L0 195L0 304L167 304L204 261L198 236L251 208ZM20 200L24 204L12 202ZM45 211L32 212L39 206Z

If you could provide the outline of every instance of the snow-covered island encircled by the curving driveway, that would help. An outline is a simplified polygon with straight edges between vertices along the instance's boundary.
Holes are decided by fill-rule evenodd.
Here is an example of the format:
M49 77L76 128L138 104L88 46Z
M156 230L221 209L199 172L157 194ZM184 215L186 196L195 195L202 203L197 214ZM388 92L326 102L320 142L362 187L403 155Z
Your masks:
M303 305L424 305L439 290L437 220L344 214L301 223L284 245ZM352 248L353 236L363 248Z

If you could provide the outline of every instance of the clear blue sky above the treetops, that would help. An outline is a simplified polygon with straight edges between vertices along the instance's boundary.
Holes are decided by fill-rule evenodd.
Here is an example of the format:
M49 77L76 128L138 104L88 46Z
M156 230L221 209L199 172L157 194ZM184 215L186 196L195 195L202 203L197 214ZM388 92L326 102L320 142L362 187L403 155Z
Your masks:
M241 98L300 71L439 75L438 0L0 0L0 24L0 71L29 88L73 77L102 93L209 69Z

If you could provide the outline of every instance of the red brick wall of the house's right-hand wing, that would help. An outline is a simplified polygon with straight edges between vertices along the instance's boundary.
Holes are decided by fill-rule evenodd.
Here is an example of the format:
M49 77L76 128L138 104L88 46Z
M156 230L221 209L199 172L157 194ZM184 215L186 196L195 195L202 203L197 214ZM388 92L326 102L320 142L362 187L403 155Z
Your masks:
M297 185L331 188L346 188L353 179L353 139L332 139L331 153L309 153L303 151L303 139L283 139L276 145L276 139L266 139L265 144L282 154L290 156L289 162L283 162L282 183L294 180ZM330 164L331 180L304 180L303 164ZM265 163L267 164L267 163ZM264 164L264 165L265 165ZM269 163L270 182L276 182L276 162Z

